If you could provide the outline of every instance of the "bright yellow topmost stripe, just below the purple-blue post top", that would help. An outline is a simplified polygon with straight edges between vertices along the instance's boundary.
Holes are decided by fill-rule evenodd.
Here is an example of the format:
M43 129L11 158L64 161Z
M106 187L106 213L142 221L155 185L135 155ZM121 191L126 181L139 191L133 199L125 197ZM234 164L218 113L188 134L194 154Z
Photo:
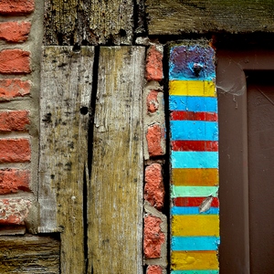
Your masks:
M213 81L173 80L169 82L169 94L216 97L216 86Z

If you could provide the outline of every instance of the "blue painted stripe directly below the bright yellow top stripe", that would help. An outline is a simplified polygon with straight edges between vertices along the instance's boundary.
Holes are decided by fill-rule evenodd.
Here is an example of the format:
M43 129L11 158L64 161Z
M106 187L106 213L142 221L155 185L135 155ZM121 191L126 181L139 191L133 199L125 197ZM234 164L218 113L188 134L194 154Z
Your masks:
M205 111L217 112L216 97L176 96L169 97L170 111Z

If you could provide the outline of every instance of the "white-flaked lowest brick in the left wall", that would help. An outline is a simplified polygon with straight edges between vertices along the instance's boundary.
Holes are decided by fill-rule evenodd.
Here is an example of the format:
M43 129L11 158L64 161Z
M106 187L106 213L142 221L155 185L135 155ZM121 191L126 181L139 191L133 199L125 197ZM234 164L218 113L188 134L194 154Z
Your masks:
M24 199L0 199L0 225L24 225L31 201Z

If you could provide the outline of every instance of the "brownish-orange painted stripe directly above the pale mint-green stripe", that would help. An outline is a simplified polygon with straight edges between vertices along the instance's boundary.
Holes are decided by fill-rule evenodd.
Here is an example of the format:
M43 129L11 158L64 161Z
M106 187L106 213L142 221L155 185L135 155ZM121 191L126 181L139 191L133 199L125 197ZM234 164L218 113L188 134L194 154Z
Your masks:
M174 168L172 184L189 186L218 185L217 168Z

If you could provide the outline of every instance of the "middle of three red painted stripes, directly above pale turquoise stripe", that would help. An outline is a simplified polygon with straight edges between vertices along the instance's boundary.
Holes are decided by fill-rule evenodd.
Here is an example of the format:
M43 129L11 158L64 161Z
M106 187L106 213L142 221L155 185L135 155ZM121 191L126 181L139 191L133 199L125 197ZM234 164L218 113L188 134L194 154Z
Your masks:
M174 152L217 152L217 141L172 141Z

